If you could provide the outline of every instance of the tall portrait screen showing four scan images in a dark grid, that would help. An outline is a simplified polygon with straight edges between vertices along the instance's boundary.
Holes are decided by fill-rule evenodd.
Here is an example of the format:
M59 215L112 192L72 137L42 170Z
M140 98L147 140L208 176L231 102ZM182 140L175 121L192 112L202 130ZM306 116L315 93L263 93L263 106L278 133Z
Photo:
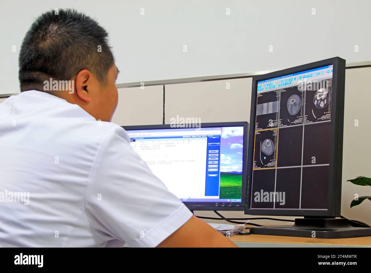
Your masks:
M336 168L330 164L336 135L334 65L304 67L256 79L249 212L305 215L306 210L329 209L329 183Z

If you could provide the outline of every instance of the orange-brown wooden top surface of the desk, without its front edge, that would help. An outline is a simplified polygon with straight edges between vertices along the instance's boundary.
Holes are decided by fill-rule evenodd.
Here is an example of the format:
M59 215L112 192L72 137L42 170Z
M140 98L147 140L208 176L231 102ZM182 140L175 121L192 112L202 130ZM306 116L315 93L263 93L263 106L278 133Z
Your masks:
M233 242L246 243L274 243L274 244L319 244L332 246L370 246L371 236L354 237L342 239L322 239L322 238L306 238L306 237L288 237L288 236L272 236L272 235L234 235L230 237Z

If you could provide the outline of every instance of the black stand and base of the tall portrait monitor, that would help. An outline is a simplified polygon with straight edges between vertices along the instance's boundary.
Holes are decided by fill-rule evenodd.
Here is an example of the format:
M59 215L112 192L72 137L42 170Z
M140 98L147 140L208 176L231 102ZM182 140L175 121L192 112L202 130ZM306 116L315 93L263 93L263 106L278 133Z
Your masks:
M251 227L250 234L312 237L349 238L371 236L371 228L361 227L344 218L296 218L293 225Z

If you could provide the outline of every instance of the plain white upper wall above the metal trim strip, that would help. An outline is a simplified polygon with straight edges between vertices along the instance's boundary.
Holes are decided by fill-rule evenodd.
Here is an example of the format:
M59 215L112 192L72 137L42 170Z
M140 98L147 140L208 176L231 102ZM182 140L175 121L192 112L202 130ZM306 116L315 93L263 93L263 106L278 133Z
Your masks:
M119 84L282 69L334 56L371 61L368 0L1 0L0 94L19 92L18 53L33 19L65 7L108 30Z

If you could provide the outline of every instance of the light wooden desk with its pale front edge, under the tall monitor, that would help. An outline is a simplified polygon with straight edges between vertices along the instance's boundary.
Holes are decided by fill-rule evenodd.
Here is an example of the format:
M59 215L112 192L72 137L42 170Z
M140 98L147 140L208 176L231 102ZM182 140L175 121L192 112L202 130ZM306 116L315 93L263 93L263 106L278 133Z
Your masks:
M322 239L250 234L234 235L230 240L239 247L371 247L371 236Z

